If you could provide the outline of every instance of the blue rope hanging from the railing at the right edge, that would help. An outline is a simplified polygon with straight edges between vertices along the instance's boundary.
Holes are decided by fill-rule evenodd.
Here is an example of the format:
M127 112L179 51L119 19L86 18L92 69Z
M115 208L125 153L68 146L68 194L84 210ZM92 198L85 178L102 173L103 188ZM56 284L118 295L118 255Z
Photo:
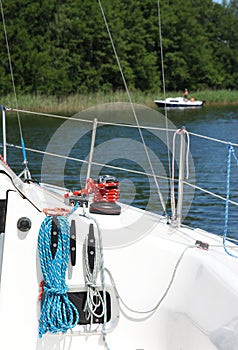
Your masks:
M229 221L229 198L230 198L231 156L232 155L236 160L236 165L238 165L238 158L235 154L234 148L229 143L229 145L228 145L228 157L227 157L226 209L225 209L225 226L224 226L224 233L223 233L223 247L224 247L225 252L228 255L232 256L233 258L238 258L237 255L230 253L226 247L226 237L227 237L228 221Z

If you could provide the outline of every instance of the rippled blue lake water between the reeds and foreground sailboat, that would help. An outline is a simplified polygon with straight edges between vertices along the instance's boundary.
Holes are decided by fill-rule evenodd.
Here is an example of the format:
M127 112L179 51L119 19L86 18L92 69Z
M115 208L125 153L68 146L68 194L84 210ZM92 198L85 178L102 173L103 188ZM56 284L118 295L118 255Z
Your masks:
M80 118L93 117L109 122L134 123L130 113L113 111L109 116L108 110L98 112L92 110L80 114ZM158 111L153 110L139 113L140 123L144 125L157 125L164 127L163 117L157 117ZM102 115L102 118L101 118ZM175 128L186 126L188 132L202 134L211 138L227 142L238 143L238 106L203 107L202 109L170 110L168 119ZM41 151L60 153L72 158L86 159L91 142L91 124L68 122L62 119L46 118L43 116L21 115L21 124L25 145ZM13 113L7 114L8 143L20 145L17 117ZM171 169L168 166L168 153L165 146L166 134L152 129L143 130L143 137L149 147L154 171L160 176L168 177ZM173 132L169 133L169 143L172 149ZM179 139L177 136L176 138ZM178 152L179 141L176 141ZM187 181L196 186L203 187L217 195L226 196L227 155L226 144L208 141L190 135L190 175ZM237 147L235 148L238 154ZM43 157L43 154L27 151L29 169L36 179L64 185L70 189L84 186L85 163L65 160L61 158ZM171 157L171 152L170 152ZM141 137L135 128L99 125L93 161L100 164L119 166L131 170L151 174L151 168L141 143ZM19 173L22 169L21 150L9 147L8 162ZM43 162L43 163L42 163ZM175 158L175 174L177 174L178 156ZM156 186L151 176L134 174L129 171L106 168L103 165L92 168L92 177L99 174L113 174L121 182L121 201L140 208L162 213ZM161 192L169 209L169 182L159 179ZM238 167L235 160L231 165L231 199L238 201ZM176 187L176 186L175 186ZM184 187L184 223L192 227L199 227L216 234L223 234L225 220L225 201L212 197L193 187ZM238 209L230 205L228 235L238 239Z

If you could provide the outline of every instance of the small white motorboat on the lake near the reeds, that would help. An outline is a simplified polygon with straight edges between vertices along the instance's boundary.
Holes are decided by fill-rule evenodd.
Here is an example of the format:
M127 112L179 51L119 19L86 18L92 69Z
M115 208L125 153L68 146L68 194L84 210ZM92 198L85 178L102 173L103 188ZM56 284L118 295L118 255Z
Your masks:
M203 107L205 101L187 99L183 97L168 97L165 100L154 100L159 108L197 108Z

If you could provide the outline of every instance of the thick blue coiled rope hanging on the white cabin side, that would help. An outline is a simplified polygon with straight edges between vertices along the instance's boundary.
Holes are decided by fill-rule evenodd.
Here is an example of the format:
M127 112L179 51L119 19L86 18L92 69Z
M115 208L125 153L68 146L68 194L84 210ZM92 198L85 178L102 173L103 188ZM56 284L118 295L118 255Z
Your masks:
M39 337L46 332L67 332L79 321L79 313L68 298L66 270L70 252L70 226L67 217L58 216L58 246L54 259L51 253L52 216L41 224L38 249L44 277L44 301L39 320Z

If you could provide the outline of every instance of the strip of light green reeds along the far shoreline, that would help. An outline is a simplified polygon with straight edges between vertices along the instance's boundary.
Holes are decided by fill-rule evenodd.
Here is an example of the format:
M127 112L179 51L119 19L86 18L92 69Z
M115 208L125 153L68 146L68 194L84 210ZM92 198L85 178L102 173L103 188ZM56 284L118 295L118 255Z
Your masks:
M133 103L143 104L150 108L156 108L154 100L164 99L163 93L131 91ZM182 91L167 92L166 97L183 96ZM238 90L204 90L200 92L190 92L189 98L206 101L205 106L211 105L238 105ZM77 113L81 110L103 103L129 102L124 91L97 92L88 94L75 94L64 97L44 96L44 95L19 95L17 103L14 95L2 96L2 104L5 107L21 110L37 111L42 113Z

